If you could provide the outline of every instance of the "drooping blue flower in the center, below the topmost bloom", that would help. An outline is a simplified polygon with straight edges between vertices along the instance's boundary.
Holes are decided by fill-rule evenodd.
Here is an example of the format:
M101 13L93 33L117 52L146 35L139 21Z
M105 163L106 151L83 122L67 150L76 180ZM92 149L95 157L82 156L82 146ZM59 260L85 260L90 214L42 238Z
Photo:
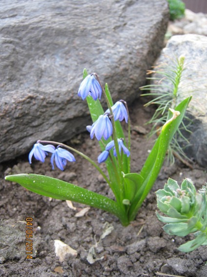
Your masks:
M90 132L91 139L95 135L98 140L103 136L107 140L113 133L112 123L108 115L100 115L92 126L87 126L86 129Z

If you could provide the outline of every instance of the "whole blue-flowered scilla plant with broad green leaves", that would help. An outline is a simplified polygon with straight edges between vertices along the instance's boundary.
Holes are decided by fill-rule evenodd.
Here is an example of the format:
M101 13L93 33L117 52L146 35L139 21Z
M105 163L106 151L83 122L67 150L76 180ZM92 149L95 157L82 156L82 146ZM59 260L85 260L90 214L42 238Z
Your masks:
M104 94L108 109L104 112L100 98ZM88 74L83 70L83 81L78 95L86 99L93 124L87 126L90 137L98 139L102 153L98 157L98 163L105 162L105 173L92 159L80 151L60 142L38 140L29 154L29 162L32 157L44 162L48 153L52 153L51 163L54 161L61 170L66 162L75 162L72 151L90 162L114 193L115 200L95 193L78 185L63 182L48 176L36 174L18 174L6 176L5 179L19 183L27 189L44 196L61 200L71 200L83 203L95 208L104 209L115 214L124 226L134 220L136 214L153 186L164 162L169 142L173 138L184 117L187 105L191 97L182 101L175 110L169 110L168 118L164 124L159 138L156 140L140 173L130 172L130 119L128 108L124 100L115 104L112 101L108 85L101 85L96 73ZM124 136L120 121L128 124L127 140ZM57 147L55 147L57 145Z

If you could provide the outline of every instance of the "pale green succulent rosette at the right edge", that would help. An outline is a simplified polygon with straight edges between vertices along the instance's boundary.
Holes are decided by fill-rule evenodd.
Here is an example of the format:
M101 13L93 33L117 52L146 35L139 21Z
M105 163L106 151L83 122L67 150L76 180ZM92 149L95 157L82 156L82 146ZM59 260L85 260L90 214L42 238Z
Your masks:
M164 189L159 189L156 195L158 208L167 215L157 212L158 219L166 223L164 231L170 235L195 235L178 250L190 252L207 245L207 186L196 191L190 179L186 178L181 187L176 181L168 179Z

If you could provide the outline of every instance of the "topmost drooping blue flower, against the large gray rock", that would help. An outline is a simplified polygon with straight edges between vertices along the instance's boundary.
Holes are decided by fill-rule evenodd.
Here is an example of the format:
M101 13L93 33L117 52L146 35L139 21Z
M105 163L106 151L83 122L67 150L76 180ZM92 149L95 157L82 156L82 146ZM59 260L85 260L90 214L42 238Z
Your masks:
M82 97L83 100L88 95L91 95L94 100L97 100L98 97L101 99L102 88L94 74L87 75L78 90L78 96Z

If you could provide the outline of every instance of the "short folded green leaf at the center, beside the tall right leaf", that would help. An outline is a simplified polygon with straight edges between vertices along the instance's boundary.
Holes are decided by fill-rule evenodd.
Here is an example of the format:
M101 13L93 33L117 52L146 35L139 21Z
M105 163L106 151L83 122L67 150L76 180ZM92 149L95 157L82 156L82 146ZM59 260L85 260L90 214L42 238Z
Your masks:
M143 184L143 177L138 173L128 173L124 174L124 198L128 199L130 202L133 201L137 191Z

